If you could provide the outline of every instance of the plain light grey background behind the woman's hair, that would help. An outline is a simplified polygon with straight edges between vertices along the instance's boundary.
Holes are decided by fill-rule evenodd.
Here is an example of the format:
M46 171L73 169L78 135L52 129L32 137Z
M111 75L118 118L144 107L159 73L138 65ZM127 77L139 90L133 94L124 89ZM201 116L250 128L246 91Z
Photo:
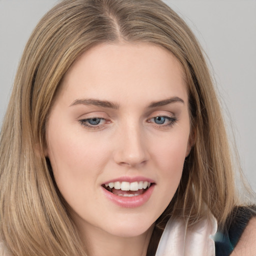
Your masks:
M56 0L0 0L0 125L30 32ZM256 0L165 0L202 44L220 93L230 138L256 191Z

